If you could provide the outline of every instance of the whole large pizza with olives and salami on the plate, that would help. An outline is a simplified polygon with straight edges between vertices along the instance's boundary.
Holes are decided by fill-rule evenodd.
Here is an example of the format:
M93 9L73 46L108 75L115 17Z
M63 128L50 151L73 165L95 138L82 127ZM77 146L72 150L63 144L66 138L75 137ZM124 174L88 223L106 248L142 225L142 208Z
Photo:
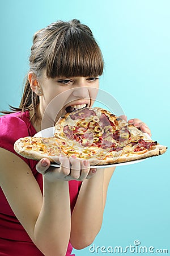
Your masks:
M20 138L14 149L34 160L48 158L57 163L59 155L65 155L101 166L162 155L167 147L108 110L84 108L59 118L53 137Z

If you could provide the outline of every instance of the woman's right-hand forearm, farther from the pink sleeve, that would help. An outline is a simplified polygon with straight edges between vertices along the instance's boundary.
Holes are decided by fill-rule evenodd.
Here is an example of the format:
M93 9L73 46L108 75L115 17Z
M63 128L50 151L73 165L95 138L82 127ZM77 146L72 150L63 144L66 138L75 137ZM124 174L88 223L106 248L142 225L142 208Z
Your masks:
M71 243L77 249L90 244L99 232L103 220L104 170L97 170L91 179L82 183L71 216Z

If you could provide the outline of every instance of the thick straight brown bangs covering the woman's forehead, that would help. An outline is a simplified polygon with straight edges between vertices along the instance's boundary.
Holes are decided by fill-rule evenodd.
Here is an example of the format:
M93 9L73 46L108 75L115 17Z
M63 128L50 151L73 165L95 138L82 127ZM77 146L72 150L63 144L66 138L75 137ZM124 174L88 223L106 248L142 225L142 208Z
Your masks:
M92 36L71 28L56 36L46 56L46 76L101 76L104 68L100 48Z

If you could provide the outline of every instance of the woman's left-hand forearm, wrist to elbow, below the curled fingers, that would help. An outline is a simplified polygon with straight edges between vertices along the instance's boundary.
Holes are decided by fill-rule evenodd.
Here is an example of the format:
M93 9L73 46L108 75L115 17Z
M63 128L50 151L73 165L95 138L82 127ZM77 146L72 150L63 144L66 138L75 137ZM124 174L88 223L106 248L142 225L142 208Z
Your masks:
M42 209L35 225L35 243L47 256L65 255L70 238L70 198L67 181L44 178ZM63 254L62 254L63 253Z

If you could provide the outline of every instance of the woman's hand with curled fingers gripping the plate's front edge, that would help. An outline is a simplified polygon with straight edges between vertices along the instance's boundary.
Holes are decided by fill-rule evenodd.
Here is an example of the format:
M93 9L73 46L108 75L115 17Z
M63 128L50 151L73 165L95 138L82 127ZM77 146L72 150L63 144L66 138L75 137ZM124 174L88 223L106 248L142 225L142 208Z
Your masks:
M88 160L80 160L74 157L59 156L60 167L50 166L49 159L42 158L36 165L36 170L50 181L90 179L95 175L96 169L90 168Z

